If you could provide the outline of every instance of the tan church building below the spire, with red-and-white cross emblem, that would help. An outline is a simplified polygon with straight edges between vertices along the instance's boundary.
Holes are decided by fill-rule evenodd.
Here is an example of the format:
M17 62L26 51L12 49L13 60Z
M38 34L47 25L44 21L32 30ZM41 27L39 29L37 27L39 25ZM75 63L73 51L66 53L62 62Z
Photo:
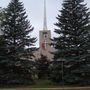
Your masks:
M50 30L42 30L39 31L39 49L34 53L35 58L38 59L41 55L47 57L48 60L53 60L53 54L51 52L54 51L54 48L51 47L51 31Z

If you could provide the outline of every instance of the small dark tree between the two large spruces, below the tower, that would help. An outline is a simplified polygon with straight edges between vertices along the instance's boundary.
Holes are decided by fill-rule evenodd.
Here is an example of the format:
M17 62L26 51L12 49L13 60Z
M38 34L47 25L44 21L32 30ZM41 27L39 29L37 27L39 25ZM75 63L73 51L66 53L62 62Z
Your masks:
M41 55L41 58L36 60L36 70L39 79L45 79L48 77L49 60L46 56Z

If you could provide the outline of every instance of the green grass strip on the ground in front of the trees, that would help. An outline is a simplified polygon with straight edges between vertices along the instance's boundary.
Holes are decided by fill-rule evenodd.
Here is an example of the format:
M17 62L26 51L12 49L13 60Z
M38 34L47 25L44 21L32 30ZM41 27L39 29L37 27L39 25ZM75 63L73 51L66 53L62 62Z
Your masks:
M31 86L7 86L2 87L0 90L90 90L90 87L67 87L65 86L64 89L62 86L59 85L52 85L48 80L38 80L37 83Z

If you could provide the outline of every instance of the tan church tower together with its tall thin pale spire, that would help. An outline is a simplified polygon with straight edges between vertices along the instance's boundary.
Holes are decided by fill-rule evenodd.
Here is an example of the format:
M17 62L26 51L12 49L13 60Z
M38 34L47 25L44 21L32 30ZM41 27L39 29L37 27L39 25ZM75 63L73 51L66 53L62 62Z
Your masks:
M44 22L43 30L39 31L39 46L40 54L47 56L48 59L51 59L51 31L47 29L47 15L46 15L46 0L44 0Z

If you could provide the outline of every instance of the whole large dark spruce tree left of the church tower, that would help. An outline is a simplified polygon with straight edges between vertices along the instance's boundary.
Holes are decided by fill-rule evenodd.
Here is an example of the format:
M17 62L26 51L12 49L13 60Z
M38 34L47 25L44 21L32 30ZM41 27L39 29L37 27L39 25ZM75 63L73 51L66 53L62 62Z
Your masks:
M11 0L4 12L1 24L3 31L3 43L5 45L5 57L0 61L0 84L31 84L32 63L25 59L25 55L33 56L36 48L33 48L36 38L31 37L33 27L27 19L24 5L19 0ZM1 47L0 47L1 49ZM1 50L4 52L4 49ZM27 65L30 64L30 65Z

